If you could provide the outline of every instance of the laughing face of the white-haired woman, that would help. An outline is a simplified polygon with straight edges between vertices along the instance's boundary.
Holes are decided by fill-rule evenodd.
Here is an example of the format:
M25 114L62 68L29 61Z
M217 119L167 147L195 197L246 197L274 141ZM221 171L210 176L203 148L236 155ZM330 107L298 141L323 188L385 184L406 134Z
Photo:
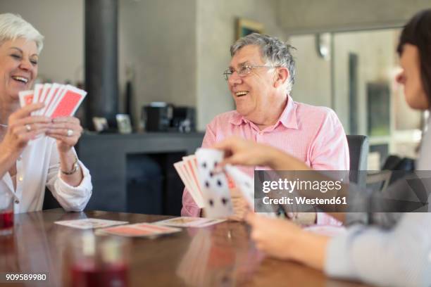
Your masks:
M39 56L34 41L18 38L0 45L0 97L18 100L18 93L32 88Z

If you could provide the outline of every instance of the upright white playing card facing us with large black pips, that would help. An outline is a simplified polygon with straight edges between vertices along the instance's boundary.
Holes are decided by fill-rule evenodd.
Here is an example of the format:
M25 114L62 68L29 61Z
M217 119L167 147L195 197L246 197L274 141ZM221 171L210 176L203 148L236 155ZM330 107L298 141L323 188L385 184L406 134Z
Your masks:
M224 173L214 174L218 162L223 160L223 151L198 148L196 151L199 180L205 200L206 217L228 217L233 214L227 177Z

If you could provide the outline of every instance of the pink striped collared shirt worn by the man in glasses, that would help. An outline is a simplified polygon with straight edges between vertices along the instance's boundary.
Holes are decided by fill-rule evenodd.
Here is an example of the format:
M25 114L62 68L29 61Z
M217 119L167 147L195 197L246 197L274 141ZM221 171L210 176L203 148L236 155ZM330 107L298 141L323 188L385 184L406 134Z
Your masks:
M216 142L234 135L280 148L304 161L314 170L349 170L346 134L337 115L330 108L297 103L288 96L280 119L272 127L263 130L259 130L253 122L232 110L216 116L209 123L202 147L211 147ZM242 170L253 177L254 167L244 167ZM199 207L185 189L181 215L199 214ZM322 212L318 212L317 223L339 225L336 219Z

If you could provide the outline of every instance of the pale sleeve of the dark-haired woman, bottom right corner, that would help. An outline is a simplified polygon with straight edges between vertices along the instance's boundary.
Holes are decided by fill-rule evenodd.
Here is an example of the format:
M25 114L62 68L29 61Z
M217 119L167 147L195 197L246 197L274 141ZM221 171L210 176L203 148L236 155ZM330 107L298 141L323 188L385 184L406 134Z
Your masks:
M431 286L431 214L405 213L393 229L352 227L330 240L325 273L378 286Z

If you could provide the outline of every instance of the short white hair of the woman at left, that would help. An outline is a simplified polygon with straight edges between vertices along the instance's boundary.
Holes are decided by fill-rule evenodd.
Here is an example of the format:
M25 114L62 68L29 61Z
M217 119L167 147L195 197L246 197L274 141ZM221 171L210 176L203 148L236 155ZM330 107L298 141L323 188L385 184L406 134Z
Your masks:
M30 23L20 15L12 13L0 14L0 45L6 41L24 38L27 41L35 41L37 52L44 47L44 37Z

